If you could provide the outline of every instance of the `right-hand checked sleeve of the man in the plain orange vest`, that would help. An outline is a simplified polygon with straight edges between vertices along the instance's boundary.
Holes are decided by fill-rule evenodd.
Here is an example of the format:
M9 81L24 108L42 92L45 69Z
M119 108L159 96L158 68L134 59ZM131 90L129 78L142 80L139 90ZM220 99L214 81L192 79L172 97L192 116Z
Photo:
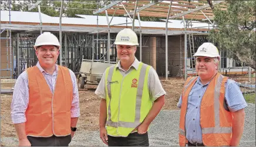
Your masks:
M73 100L71 104L71 118L80 116L80 107L79 107L79 93L78 93L78 85L76 84L76 76L72 70L69 69L70 77L73 84Z

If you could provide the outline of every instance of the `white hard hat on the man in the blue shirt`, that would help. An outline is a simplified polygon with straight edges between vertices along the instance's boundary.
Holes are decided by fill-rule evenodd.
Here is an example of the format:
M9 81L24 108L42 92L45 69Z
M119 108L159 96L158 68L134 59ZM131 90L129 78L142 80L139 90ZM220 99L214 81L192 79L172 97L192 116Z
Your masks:
M218 49L213 43L206 42L203 45L199 46L197 52L194 56L204 56L204 57L218 57L220 58L220 54L218 53Z

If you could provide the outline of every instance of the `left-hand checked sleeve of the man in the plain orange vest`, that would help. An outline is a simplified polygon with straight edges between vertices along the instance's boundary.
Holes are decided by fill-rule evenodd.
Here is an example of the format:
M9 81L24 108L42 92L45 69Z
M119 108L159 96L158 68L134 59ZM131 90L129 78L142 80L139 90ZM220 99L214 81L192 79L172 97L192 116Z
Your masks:
M25 112L28 108L29 88L28 74L23 71L16 80L11 102L11 118L14 124L26 122Z

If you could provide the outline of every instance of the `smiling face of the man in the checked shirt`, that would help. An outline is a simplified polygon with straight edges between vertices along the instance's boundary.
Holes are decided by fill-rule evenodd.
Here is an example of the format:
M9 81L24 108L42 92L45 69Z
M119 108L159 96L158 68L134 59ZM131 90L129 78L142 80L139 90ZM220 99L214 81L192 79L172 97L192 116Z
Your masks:
M58 59L59 50L52 45L41 46L36 49L36 56L41 66L51 67L55 65Z

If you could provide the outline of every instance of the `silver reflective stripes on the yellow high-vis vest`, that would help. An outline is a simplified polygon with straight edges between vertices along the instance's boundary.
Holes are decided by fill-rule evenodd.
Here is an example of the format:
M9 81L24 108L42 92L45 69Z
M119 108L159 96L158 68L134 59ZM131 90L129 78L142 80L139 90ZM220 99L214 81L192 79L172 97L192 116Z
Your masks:
M116 69L116 66L111 66L109 69L109 74L107 76L107 81L112 81L113 71ZM144 85L144 79L146 75L146 69L147 64L142 63L142 69L140 70L140 76L138 81L138 88L137 88L137 94L136 94L136 114L135 114L135 121L134 122L113 122L111 121L111 110L110 110L110 101L112 99L111 95L111 84L107 84L107 93L109 94L109 107L108 107L108 115L109 119L106 122L107 126L110 127L124 127L124 128L136 128L140 124L140 108L142 104L142 93L143 93L143 85Z

